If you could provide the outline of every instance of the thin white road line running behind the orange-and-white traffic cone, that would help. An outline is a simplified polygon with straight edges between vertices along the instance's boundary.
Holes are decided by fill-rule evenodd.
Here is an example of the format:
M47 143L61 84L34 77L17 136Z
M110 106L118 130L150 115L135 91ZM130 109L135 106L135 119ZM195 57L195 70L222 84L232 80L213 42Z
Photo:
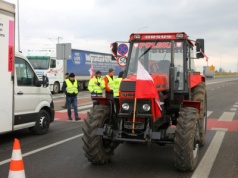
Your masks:
M24 154L22 154L22 157L26 157L26 156L29 156L29 155L38 153L38 152L40 152L40 151L43 151L43 150L52 148L52 147L54 147L54 146L60 145L60 144L62 144L62 143L65 143L65 142L74 140L74 139L79 138L79 137L82 137L82 136L83 136L82 133L79 134L79 135L75 135L75 136L73 136L73 137L70 137L70 138L61 140L61 141L59 141L59 142L50 144L50 145L48 145L48 146L44 146L44 147L38 148L38 149L36 149L36 150L33 150L33 151L30 151L30 152L24 153ZM1 162L0 162L0 166L3 165L3 164L9 163L10 161L11 161L11 159L6 159L6 160L4 160L4 161L1 161Z

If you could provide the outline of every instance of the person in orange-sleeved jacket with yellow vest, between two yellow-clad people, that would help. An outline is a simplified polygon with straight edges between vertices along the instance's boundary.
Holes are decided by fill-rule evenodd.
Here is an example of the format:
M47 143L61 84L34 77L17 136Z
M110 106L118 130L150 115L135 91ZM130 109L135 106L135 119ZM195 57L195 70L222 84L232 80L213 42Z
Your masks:
M113 99L114 73L114 69L110 68L108 74L104 77L106 98L110 99Z

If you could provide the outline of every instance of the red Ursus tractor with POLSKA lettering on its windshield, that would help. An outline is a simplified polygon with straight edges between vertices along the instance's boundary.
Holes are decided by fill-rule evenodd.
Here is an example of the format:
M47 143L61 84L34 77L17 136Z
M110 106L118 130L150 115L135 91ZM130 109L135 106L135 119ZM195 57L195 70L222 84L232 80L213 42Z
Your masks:
M118 44L113 43L114 55ZM193 171L206 136L205 78L194 69L194 60L204 57L204 40L193 41L184 32L134 33L129 46L119 113L114 100L95 98L97 105L83 127L86 157L93 164L104 164L123 142L173 143L175 167ZM153 79L154 85L143 90L156 89L160 113L155 98L136 99L139 64Z

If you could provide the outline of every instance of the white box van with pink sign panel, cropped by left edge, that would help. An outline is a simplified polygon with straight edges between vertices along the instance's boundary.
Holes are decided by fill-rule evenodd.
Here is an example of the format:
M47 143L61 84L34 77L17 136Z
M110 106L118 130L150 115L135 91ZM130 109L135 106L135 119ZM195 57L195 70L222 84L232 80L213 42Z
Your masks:
M15 5L0 0L0 134L29 128L48 132L54 104L47 77L40 81L31 64L15 53Z

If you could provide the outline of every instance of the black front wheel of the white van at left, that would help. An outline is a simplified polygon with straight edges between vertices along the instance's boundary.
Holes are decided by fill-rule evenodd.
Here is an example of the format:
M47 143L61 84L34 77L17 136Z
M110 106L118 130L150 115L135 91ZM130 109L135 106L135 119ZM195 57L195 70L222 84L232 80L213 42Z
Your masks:
M50 127L50 115L47 111L41 110L37 116L33 132L37 135L46 134Z

